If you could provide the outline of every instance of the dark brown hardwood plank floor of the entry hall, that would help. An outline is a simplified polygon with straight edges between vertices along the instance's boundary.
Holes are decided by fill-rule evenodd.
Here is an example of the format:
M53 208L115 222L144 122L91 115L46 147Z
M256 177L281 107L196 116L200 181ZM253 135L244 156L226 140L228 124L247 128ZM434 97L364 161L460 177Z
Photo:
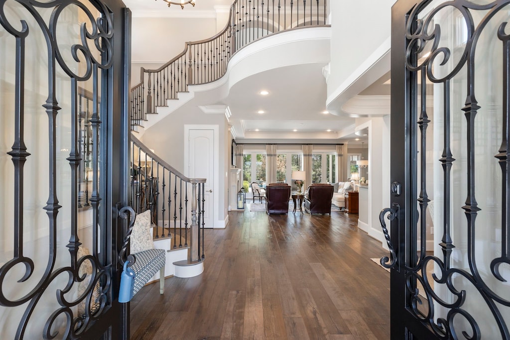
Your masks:
M131 302L131 339L389 339L386 254L358 215L232 212L206 229L205 271Z

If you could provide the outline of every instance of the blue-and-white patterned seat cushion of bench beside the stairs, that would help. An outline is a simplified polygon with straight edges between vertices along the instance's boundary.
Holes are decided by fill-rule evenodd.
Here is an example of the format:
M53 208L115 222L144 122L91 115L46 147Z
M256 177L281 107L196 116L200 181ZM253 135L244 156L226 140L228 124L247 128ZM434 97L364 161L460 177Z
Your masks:
M164 249L149 249L133 254L136 261L131 267L135 272L135 288L133 295L150 280L163 266L165 266L165 250Z

